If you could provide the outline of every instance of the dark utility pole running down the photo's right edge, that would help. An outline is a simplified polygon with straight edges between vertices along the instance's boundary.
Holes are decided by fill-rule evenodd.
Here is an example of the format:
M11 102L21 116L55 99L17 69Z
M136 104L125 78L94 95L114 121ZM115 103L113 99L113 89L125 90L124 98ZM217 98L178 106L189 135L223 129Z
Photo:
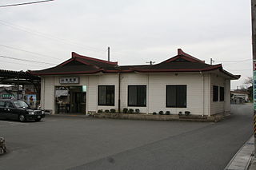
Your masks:
M253 42L253 92L254 92L254 152L256 151L256 0L251 0L251 22ZM254 154L256 157L256 154Z

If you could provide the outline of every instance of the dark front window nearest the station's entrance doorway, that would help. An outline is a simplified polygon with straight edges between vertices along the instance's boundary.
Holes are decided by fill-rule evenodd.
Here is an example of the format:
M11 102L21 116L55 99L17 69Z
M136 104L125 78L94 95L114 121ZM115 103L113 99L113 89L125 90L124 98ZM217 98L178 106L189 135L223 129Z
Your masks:
M114 85L98 85L98 105L114 105Z

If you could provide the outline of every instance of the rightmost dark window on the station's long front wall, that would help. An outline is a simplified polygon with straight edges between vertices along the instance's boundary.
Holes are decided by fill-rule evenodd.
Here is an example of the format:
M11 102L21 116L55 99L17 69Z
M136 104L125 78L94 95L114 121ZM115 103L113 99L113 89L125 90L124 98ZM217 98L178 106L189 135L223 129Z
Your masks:
M166 85L166 107L186 108L186 85Z

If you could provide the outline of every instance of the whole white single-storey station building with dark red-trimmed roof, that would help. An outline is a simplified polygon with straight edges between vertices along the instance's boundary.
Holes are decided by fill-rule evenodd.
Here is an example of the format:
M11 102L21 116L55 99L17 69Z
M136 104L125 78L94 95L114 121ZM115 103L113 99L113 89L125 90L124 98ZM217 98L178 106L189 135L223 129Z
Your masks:
M202 116L230 112L230 80L240 77L182 49L155 65L118 65L73 52L60 65L30 73L41 77L41 105L53 113L127 108Z

